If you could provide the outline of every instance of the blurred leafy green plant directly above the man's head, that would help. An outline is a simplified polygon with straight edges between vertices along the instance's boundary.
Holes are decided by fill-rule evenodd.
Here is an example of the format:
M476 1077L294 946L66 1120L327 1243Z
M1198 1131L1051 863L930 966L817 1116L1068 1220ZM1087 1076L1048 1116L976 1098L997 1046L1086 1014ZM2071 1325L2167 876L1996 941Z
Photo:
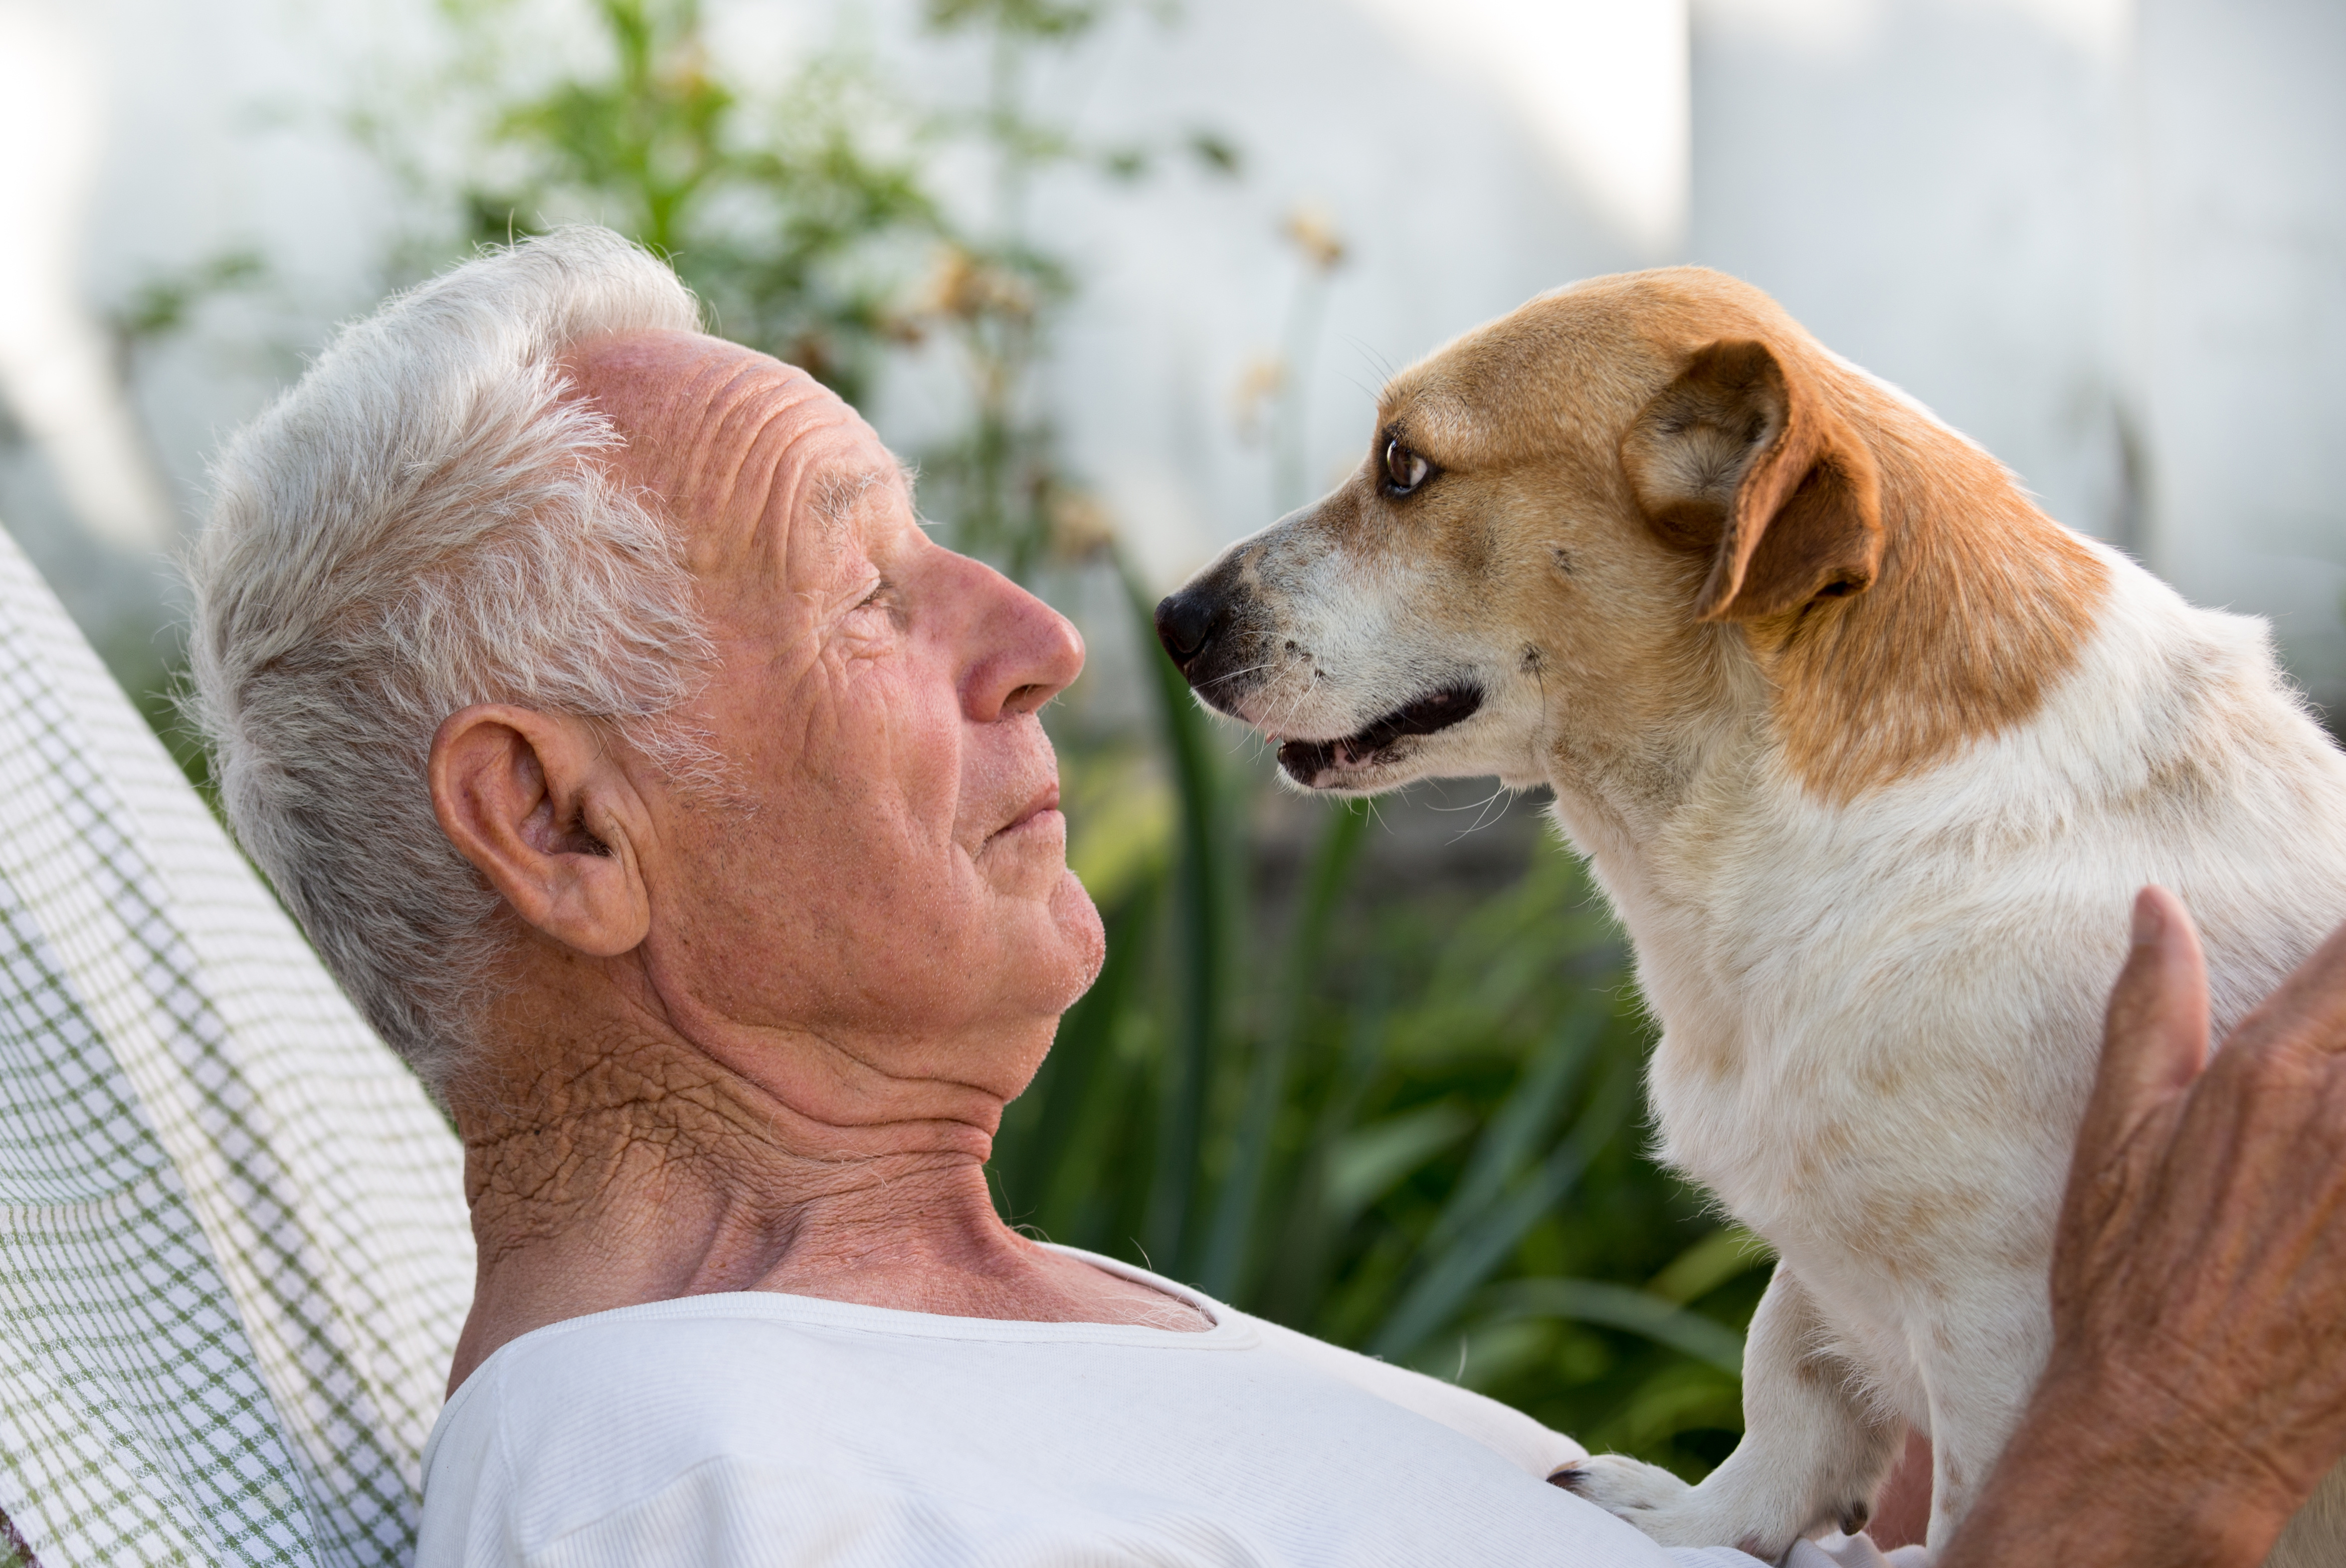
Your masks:
M910 282L952 230L922 178L936 127L868 59L826 52L744 94L713 70L699 0L582 0L577 33L601 63L514 96L528 35L511 28L537 16L514 0L439 5L462 63L441 96L476 101L460 244L608 223L666 256L727 336L849 401L889 345L917 340ZM401 134L385 113L354 127L371 146Z

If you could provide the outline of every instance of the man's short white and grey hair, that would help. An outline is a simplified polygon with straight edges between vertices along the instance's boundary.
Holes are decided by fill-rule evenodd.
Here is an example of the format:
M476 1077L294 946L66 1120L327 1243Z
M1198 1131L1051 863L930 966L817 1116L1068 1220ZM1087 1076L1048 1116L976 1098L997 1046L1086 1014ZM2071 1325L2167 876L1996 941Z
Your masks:
M230 441L188 559L192 709L221 803L375 1030L446 1091L511 941L432 815L441 721L514 702L662 723L708 638L678 540L615 484L561 354L694 331L692 293L603 228L490 251L352 322Z

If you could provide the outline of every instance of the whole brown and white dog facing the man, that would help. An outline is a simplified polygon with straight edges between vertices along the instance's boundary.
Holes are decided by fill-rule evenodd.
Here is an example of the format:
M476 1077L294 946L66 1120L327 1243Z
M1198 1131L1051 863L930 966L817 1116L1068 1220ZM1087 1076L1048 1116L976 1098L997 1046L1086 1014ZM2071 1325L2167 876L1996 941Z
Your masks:
M1905 1420L1942 1547L2046 1357L2135 890L2196 915L2219 1030L2346 918L2346 756L2264 624L1717 272L1577 284L1403 371L1361 472L1157 624L1304 789L1553 786L1663 1026L1661 1153L1781 1256L1736 1453L1569 1479L1668 1545L1865 1519ZM2346 1561L2341 1476L2276 1563Z

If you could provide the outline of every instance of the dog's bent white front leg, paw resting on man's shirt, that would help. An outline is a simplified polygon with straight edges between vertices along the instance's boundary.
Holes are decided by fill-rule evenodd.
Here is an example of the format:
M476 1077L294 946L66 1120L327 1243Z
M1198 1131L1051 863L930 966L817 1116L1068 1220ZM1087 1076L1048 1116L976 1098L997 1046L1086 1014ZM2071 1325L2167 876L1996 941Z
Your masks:
M1828 1526L1856 1530L1898 1458L1903 1422L1884 1420L1858 1368L1783 1263L1743 1347L1743 1441L1708 1481L1595 1455L1555 1476L1666 1547L1741 1547L1776 1561Z

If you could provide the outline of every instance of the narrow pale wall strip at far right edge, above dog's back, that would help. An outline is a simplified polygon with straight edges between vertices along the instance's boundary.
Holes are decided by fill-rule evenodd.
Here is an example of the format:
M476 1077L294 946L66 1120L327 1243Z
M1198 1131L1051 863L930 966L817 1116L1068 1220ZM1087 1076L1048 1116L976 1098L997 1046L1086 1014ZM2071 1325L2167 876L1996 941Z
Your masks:
M2346 714L2346 5L2147 0L2135 113L2154 559Z

